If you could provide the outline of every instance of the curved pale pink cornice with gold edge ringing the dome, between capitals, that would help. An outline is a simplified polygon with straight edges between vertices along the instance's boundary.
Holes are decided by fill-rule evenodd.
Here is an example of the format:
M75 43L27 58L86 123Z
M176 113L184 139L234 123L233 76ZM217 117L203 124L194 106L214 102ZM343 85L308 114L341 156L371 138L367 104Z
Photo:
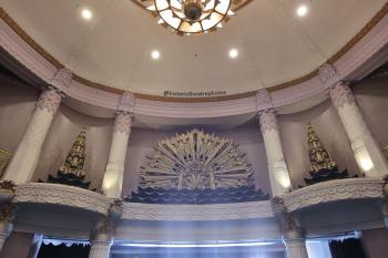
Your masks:
M388 42L387 12L388 4L376 14L363 29L361 33L355 37L346 48L328 60L327 63L336 68L340 80L357 78L359 71L370 70L371 63L377 65L376 62L370 62L370 60L376 59L377 53ZM38 48L38 44L3 10L0 14L0 47L38 78L50 84L58 69L63 68L63 65L53 60L52 56L50 58L44 50ZM382 62L384 60L380 61ZM321 96L325 93L325 85L317 74L318 71L315 71L308 76L303 78L303 80L295 80L292 83L270 87L270 99L274 109L280 109L304 100ZM88 83L86 80L80 80L76 74L73 74L73 80L67 89L68 96L89 105L111 111L116 111L122 93L122 91L115 89ZM253 92L239 94L238 97L213 100L215 102L207 102L211 101L210 99L194 100L196 103L191 103L190 100L177 100L185 103L174 103L174 99L135 94L137 97L133 113L134 115L183 118L222 117L255 113L257 112L255 94ZM206 102L201 103L198 101Z

